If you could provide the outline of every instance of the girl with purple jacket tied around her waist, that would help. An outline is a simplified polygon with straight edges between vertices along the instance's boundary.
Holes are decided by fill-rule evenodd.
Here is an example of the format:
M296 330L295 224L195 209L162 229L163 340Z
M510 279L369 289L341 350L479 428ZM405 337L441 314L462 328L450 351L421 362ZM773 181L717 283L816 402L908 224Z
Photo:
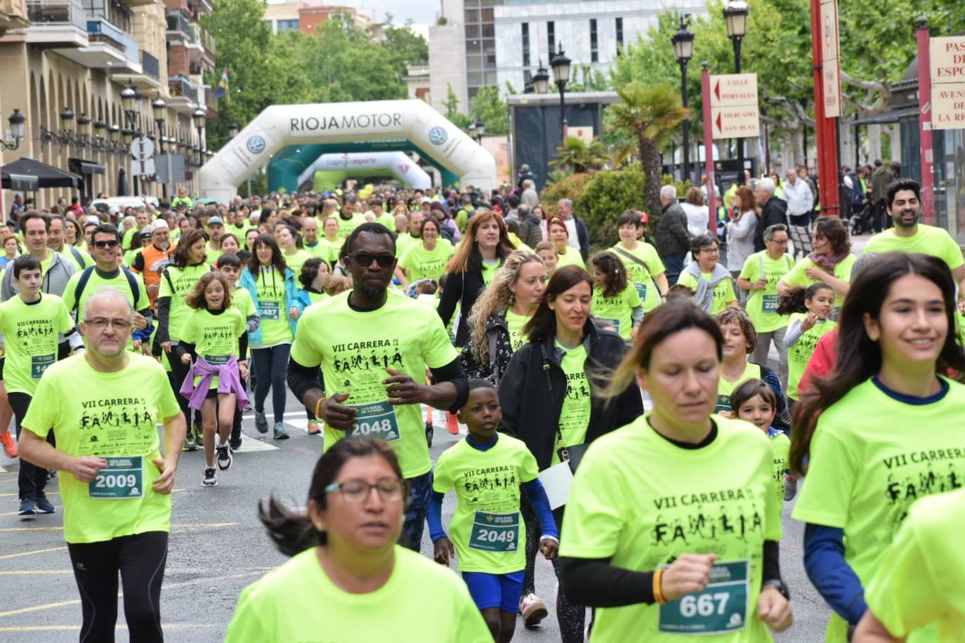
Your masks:
M192 308L181 327L177 347L180 362L190 364L180 393L188 398L188 406L201 409L205 432L205 473L202 485L218 484L214 469L214 434L218 434L218 469L232 466L232 449L228 444L234 424L234 407L248 404L241 380L248 377L248 351L245 318L232 306L232 286L220 272L207 273L185 298ZM238 358L241 358L239 362Z

